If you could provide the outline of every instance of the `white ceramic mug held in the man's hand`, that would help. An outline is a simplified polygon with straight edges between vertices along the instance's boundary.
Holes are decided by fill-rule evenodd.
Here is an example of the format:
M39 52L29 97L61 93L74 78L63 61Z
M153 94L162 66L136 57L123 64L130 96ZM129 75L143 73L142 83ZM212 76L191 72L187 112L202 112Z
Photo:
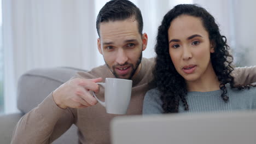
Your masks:
M106 78L105 83L97 82L97 84L105 88L105 101L99 100L93 92L94 97L106 107L107 113L125 114L131 99L132 80Z

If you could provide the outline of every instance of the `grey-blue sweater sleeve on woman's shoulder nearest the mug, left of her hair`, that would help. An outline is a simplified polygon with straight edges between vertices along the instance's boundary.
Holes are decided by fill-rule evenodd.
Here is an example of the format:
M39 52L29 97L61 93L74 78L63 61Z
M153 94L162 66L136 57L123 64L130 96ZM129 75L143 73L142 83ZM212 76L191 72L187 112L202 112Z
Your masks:
M151 89L144 97L143 115L163 113L160 92L157 89Z

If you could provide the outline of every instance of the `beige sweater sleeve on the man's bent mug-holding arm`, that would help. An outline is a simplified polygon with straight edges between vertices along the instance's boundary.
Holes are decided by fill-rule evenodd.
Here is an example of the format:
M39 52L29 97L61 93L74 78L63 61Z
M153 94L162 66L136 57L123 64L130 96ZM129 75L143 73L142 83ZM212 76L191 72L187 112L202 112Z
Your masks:
M51 143L65 133L74 122L69 109L61 109L52 93L17 123L11 143Z

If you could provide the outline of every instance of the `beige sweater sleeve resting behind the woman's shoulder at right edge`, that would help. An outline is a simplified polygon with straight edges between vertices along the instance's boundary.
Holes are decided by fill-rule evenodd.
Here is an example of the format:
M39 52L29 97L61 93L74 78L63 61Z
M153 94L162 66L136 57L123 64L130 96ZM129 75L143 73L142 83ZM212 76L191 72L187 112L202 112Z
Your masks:
M235 68L232 76L236 84L246 85L256 82L256 66Z

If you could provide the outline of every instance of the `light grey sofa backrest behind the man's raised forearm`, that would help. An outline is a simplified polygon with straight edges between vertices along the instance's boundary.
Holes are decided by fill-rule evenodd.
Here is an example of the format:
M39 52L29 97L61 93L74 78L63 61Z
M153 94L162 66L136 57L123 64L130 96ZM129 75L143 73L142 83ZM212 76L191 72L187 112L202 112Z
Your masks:
M80 69L59 67L32 69L18 81L17 107L27 113L40 104L57 87L75 76Z

